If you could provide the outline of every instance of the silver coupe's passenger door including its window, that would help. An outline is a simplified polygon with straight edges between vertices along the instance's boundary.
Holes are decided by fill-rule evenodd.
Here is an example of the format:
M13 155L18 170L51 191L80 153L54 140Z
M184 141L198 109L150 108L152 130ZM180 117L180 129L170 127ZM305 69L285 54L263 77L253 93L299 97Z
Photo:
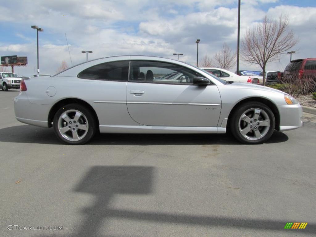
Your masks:
M183 75L176 81L159 80L172 72ZM139 78L140 73L145 79ZM217 126L221 112L218 88L193 85L195 76L200 75L176 64L131 61L126 90L131 118L151 126Z

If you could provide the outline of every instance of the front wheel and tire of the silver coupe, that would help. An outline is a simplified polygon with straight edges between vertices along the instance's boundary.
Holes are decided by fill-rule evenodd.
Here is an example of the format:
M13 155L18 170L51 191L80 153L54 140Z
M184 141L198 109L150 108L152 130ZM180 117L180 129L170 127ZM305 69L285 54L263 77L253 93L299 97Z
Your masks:
M259 111L260 113L258 114ZM258 116L258 120L255 119L257 118L255 117L255 113ZM242 119L241 116L243 116L244 119ZM249 119L250 121L245 121ZM262 126L260 126L260 123ZM271 109L265 104L260 102L247 102L235 109L229 121L229 125L232 134L240 142L245 144L260 144L271 137L275 127L275 117ZM247 132L249 129L250 131ZM244 133L242 133L242 131Z

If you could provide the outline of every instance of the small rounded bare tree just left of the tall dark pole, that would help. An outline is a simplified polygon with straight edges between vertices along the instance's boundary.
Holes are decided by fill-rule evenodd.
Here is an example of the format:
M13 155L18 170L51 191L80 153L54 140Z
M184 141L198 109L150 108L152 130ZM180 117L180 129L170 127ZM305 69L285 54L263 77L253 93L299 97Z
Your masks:
M221 51L215 54L214 59L217 67L228 70L236 63L236 53L232 52L228 44L224 43Z

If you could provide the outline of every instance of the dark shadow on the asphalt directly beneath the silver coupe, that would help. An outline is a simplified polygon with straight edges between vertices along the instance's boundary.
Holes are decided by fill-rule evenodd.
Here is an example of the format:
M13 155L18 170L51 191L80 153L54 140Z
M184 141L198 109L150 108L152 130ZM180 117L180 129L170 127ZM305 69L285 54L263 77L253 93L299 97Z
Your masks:
M275 131L266 143L288 140L283 132ZM19 125L0 129L0 142L63 145L52 128ZM98 134L89 145L245 145L231 134Z

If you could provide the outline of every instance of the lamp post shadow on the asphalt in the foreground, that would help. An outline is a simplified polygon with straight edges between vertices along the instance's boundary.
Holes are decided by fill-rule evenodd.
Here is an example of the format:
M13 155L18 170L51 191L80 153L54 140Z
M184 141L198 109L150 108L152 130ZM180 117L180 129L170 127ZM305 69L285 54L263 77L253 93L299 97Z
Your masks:
M287 222L293 220L269 220L251 218L233 218L218 216L200 216L179 213L163 213L157 211L137 211L124 209L109 209L107 205L116 194L149 195L154 193L154 167L147 166L94 166L86 173L84 178L74 188L75 192L93 194L95 202L81 210L83 221L78 225L80 228L72 235L67 236L106 236L99 233L100 228L105 231L106 219L116 218L119 220L146 221L154 223L172 223L208 226L211 228L246 228L267 231L293 231L284 230ZM198 193L196 194L198 195ZM176 197L170 197L176 198ZM198 203L196 204L198 205ZM131 209L135 207L131 206ZM154 208L153 208L154 209ZM118 222L119 222L118 220ZM308 228L299 230L300 234L314 236L316 224L308 223ZM118 223L119 228L119 223ZM127 227L126 227L127 228ZM294 230L298 231L298 230ZM63 236L63 235L59 235Z

